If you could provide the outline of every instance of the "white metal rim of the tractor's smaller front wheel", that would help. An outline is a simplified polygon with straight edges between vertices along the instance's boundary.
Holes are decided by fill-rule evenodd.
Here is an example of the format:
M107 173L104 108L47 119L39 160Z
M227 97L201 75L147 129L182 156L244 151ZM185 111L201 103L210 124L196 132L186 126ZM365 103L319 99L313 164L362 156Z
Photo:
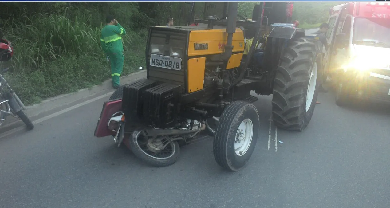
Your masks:
M236 140L234 141L234 151L236 155L243 156L250 147L253 138L253 123L250 119L244 119L238 126Z

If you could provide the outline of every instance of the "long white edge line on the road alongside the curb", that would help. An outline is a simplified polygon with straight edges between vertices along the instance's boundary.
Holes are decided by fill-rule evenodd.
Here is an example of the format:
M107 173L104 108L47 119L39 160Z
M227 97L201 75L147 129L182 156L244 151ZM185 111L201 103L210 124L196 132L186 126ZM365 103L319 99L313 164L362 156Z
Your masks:
M64 114L64 113L69 112L69 111L71 111L71 110L74 110L74 109L76 109L76 108L78 108L78 107L81 107L81 106L83 106L83 105L87 105L88 103L92 103L92 102L94 102L94 101L96 101L96 100L100 100L100 99L102 99L102 98L105 98L105 97L107 97L107 96L109 96L109 95L111 95L111 94L112 94L112 92L108 92L108 93L103 94L103 95L101 95L101 96L99 96L99 97L92 98L91 100L87 100L87 101L85 101L85 102L79 103L79 104L74 105L74 106L72 106L72 107L65 108L64 110L60 110L60 111L55 112L55 113L53 113L53 114L50 114L50 115L48 115L48 116L45 116L45 117L42 117L42 118L37 119L37 120L35 120L35 121L32 121L32 123L33 123L34 125L35 125L35 124L38 124L38 123L41 123L41 122L43 122L43 121L46 121L46 120L51 119L51 118L53 118L53 117L59 116L59 115L61 115L61 114ZM8 136L8 135L11 135L12 133L19 132L20 130L23 130L23 129L25 129L25 128L26 128L25 125L20 126L20 127L18 127L18 128L14 128L14 129L12 129L12 130L9 130L9 131L7 131L7 132L2 133L2 134L0 135L0 138L6 137L6 136ZM34 130L32 130L32 131L34 131Z

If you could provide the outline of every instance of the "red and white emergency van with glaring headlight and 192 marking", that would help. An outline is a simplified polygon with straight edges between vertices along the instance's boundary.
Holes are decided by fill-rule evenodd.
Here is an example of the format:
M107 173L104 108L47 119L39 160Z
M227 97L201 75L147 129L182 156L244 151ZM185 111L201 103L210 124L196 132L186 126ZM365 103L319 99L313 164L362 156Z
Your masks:
M390 3L348 2L330 9L324 73L336 104L390 102Z

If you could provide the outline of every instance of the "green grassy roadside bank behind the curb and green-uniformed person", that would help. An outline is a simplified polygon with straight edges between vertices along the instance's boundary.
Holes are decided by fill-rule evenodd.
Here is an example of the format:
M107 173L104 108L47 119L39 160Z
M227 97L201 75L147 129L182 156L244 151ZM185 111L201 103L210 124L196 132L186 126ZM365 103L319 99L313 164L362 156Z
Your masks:
M110 77L110 66L100 47L103 25L93 27L87 10L73 15L73 19L67 16L24 15L20 18L23 22L4 24L6 37L14 47L13 70L5 78L25 105L100 84ZM125 29L124 75L144 65L147 37L146 30Z

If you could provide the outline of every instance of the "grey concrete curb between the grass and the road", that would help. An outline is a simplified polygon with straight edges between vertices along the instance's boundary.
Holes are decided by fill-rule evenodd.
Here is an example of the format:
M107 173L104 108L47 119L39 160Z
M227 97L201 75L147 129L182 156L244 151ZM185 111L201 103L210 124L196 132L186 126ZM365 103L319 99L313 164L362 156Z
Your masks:
M137 80L145 77L146 77L146 70L138 71L131 75L121 77L121 84L127 84L133 80ZM108 92L110 90L113 90L111 79L106 80L101 85L95 85L90 89L81 89L78 92L74 92L72 94L58 95L53 98L48 98L42 101L41 103L31 105L31 106L26 106L26 110L28 112L28 116L32 117L41 114L43 112L49 111L51 109L60 107L62 105L73 103L81 99L92 97L97 93L101 93L104 91Z

